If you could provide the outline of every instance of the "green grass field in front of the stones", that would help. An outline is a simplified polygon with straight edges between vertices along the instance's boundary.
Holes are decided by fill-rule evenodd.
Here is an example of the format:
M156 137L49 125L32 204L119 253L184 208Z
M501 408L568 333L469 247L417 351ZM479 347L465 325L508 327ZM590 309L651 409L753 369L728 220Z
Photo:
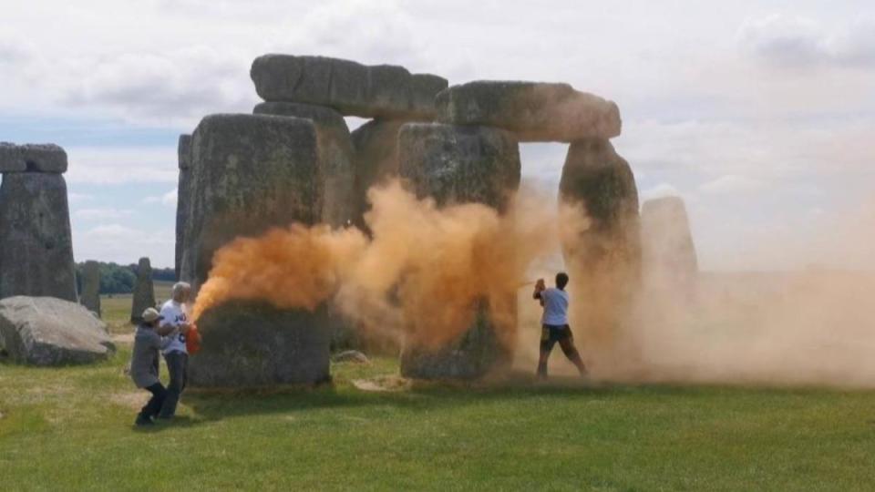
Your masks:
M165 286L166 287L166 286ZM159 295L160 299L166 297ZM128 301L129 302L129 299ZM129 303L104 301L114 333ZM3 490L871 490L875 393L818 388L427 384L358 389L396 362L335 364L335 382L146 400L106 363L0 365ZM163 373L166 377L166 372Z

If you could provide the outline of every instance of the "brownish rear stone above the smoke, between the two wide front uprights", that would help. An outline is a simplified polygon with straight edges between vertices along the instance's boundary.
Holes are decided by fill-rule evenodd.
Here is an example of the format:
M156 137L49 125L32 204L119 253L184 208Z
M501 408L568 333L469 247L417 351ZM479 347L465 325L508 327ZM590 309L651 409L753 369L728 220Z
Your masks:
M367 190L398 175L398 130L407 119L374 119L353 131L355 147L355 213L353 223L367 231L365 212L370 209Z

